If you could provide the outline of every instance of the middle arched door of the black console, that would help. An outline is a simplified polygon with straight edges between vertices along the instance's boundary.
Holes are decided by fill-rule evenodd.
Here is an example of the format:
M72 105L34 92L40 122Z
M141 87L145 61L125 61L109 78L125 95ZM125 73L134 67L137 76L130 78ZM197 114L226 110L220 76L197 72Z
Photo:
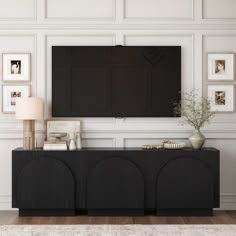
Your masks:
M144 178L131 161L100 161L87 181L88 209L144 209Z

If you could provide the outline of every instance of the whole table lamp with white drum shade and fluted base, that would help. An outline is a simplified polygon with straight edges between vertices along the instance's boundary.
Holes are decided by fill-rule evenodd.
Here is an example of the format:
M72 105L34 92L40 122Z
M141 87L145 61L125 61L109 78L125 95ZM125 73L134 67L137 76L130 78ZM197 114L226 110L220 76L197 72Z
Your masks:
M43 100L35 97L16 99L16 119L23 120L23 148L35 147L35 120L43 119Z

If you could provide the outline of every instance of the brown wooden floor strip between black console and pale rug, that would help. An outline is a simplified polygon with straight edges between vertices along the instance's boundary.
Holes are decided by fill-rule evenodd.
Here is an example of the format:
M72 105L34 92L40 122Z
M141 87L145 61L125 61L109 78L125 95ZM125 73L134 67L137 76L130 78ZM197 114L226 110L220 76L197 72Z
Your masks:
M0 211L0 224L236 224L236 211L215 211L214 216L204 217L19 217L17 211Z

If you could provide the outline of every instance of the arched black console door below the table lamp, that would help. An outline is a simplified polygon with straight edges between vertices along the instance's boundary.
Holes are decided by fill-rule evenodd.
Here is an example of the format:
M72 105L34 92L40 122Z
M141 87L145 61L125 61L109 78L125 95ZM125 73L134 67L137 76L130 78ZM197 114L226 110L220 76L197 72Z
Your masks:
M75 182L61 161L40 157L30 161L17 178L17 206L22 209L73 209Z

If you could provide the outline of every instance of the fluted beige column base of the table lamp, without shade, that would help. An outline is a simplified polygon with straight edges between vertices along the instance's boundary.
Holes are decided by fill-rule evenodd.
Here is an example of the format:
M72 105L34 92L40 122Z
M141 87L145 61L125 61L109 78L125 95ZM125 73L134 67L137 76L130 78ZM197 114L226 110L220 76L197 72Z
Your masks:
M35 148L35 121L23 121L23 148L33 150Z

